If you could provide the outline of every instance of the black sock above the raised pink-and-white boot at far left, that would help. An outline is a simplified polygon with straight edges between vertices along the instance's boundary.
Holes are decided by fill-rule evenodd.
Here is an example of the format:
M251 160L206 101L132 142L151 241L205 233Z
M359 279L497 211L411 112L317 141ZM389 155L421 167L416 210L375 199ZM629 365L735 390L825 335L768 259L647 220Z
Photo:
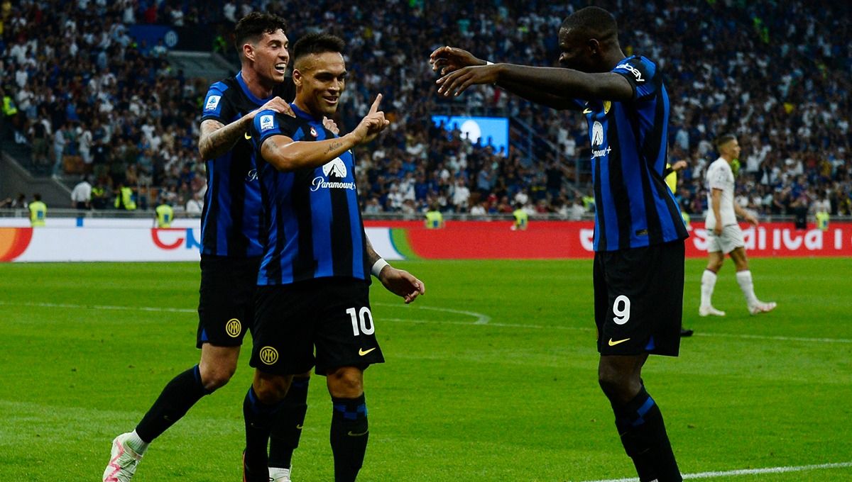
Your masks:
M195 402L210 393L212 392L205 390L201 384L199 366L193 366L172 378L163 388L157 401L136 426L136 434L143 441L151 443L186 415Z

